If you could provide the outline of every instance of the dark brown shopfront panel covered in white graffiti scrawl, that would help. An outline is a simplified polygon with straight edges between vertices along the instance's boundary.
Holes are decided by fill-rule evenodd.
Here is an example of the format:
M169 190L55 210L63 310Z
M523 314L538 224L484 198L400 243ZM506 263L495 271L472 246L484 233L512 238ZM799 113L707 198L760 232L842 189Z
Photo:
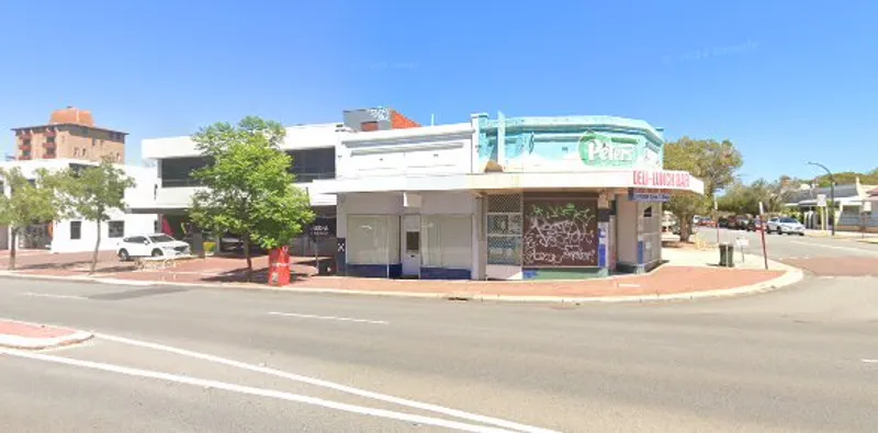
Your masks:
M596 266L597 203L525 202L525 266Z

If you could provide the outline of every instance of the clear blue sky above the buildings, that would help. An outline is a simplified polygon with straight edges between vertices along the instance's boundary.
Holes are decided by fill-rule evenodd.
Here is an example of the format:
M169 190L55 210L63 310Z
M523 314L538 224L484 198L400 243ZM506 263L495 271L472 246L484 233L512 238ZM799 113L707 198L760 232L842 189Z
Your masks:
M660 4L662 3L662 4ZM717 3L717 4L706 4ZM878 2L0 2L0 149L54 109L143 138L393 106L731 139L745 180L878 167Z

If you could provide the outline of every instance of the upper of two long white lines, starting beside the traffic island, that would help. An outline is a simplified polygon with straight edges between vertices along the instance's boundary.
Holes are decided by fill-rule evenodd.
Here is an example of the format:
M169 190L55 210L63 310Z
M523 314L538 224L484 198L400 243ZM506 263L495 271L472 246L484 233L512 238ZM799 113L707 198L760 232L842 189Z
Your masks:
M385 395L385 394L372 392L372 391L368 391L365 389L359 389L359 388L354 388L354 387L349 387L349 386L341 385L341 384L336 384L336 383L333 383L333 381L329 381L329 380L322 380L322 379L317 379L317 378L314 378L314 377L307 377L307 376L302 376L302 375L297 375L297 374L293 374L293 373L283 372L283 371L280 371L280 369L262 367L262 366L258 366L258 365L254 365L254 364L247 364L247 363L243 363L243 362L239 362L239 361L234 361L234 360L228 360L228 358L221 357L221 356L210 355L210 354L206 354L206 353L199 353L199 352L188 351L185 349L179 349L179 347L173 347L173 346L164 345L164 344L150 343L150 342L147 342L147 341L126 339L126 338L123 338L123 337L108 335L108 334L102 334L102 333L97 333L97 332L94 333L94 337L99 338L99 339L103 339L103 340L115 341L117 343L136 345L136 346L140 346L140 347L148 347L148 349L153 349L153 350L157 350L157 351L162 351L162 352L168 352L168 353L176 353L178 355L183 355L183 356L190 356L190 357L194 357L196 360L202 360L202 361L209 361L209 362L213 362L213 363L217 363L217 364L229 365L229 366L233 366L233 367L247 369L247 371L250 371L250 372L257 372L257 373L262 373L262 374L267 374L267 375L270 375L270 376L282 377L282 378L290 379L290 380L301 381L303 384L308 384L308 385L314 385L314 386L318 386L318 387L323 387L323 388L334 389L334 390L337 390L337 391L348 392L348 394L351 394L351 395L354 395L354 396L371 398L371 399L374 399L374 400L385 401L385 402L390 402L390 403L394 403L394 404L405 406L405 407L426 410L426 411L436 412L436 413L442 413L442 414L446 414L446 415L455 417L455 418L460 418L460 419L468 420L468 421L481 422L483 424L491 424L491 425L496 425L496 426L500 426L500 428L505 428L505 429L510 429L510 430L520 431L520 432L528 432L528 433L551 432L551 430L540 429L540 428L526 425L526 424L519 424L517 422L500 420L498 418L485 417L485 415L480 415L480 414L476 414L476 413L464 412L462 410L441 407L441 406L438 406L438 404L430 404L430 403L425 403L425 402L415 401L415 400L408 400L408 399L404 399L404 398L399 398L399 397L393 397L393 396L389 396L389 395Z

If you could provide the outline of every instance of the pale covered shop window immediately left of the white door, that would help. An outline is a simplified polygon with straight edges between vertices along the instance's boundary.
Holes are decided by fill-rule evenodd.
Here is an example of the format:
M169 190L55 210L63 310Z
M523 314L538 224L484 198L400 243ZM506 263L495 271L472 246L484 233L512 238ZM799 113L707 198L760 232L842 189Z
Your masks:
M399 263L399 217L348 215L347 262Z

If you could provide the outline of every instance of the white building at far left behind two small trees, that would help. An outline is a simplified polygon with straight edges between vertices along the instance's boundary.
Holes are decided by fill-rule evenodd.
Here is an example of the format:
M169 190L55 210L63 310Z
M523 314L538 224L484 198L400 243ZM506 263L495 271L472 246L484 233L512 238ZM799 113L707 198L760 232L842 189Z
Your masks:
M40 169L49 172L67 168L97 166L95 162L66 159L44 159L30 161L7 161L0 167L7 170L19 168L27 179L35 179ZM116 166L133 178L136 185L125 191L127 204L138 200L139 196L151 193L155 184L155 170L145 167ZM11 194L9 185L2 185L3 194ZM123 237L136 233L153 233L157 230L157 216L155 214L132 215L126 209L115 209L110 213L110 220L101 224L100 250L114 250ZM53 253L93 251L98 241L98 226L94 221L83 219L64 219L43 225L35 225L20 231L18 239L19 249L49 250ZM9 227L0 228L0 249L11 248L11 232Z

